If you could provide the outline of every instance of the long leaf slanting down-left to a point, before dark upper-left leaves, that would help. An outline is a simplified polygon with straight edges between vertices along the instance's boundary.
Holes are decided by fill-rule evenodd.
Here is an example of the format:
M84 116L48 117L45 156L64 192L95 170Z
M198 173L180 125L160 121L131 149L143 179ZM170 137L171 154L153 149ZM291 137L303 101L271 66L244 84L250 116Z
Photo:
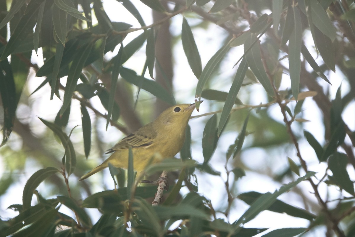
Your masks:
M81 74L81 71L84 67L85 61L88 58L90 51L93 47L93 44L88 43L86 45L82 45L74 55L73 63L70 66L69 74L67 78L67 83L65 86L64 98L63 98L63 106L60 109L60 114L63 114L66 107L69 105L71 101L71 97L73 92L75 91L75 86Z

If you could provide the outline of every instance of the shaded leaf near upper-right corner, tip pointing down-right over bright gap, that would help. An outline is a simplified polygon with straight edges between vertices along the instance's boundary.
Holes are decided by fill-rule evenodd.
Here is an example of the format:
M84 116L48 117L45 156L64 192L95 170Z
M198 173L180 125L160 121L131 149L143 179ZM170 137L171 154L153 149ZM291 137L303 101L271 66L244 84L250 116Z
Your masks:
M331 39L324 35L317 27L313 27L313 40L316 43L318 52L321 54L324 63L335 72L335 50Z

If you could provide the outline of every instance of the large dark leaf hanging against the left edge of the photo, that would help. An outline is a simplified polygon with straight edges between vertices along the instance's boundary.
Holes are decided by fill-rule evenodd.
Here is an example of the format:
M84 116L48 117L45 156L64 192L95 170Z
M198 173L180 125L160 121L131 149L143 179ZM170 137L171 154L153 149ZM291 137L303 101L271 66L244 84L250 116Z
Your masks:
M0 61L0 93L2 107L4 108L4 126L2 127L3 146L11 134L17 107L15 79L13 78L11 65L7 59Z

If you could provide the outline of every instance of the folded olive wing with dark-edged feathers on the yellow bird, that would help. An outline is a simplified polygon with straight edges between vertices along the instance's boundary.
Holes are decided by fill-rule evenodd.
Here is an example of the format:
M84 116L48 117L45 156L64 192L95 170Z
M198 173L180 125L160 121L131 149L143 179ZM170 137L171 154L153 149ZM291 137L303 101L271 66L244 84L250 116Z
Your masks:
M149 127L148 128L143 127L143 128L144 129L142 128L138 129L135 133L126 136L124 139L119 141L106 153L111 153L121 149L129 149L130 147L137 148L137 147L147 147L151 145L154 142L155 138L157 137L157 134L153 129Z

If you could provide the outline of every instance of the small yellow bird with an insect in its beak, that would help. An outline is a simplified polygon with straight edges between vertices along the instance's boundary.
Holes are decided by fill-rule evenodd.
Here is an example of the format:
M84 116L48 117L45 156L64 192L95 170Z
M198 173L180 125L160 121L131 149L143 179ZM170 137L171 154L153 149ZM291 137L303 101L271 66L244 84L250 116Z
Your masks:
M202 102L202 101L201 101ZM111 163L115 167L127 169L128 151L132 148L133 168L142 172L155 153L163 158L174 157L185 141L185 130L193 109L193 104L178 104L163 111L153 122L126 136L106 152L113 154L101 165L84 174L79 181L92 176ZM158 162L158 159L152 163Z

